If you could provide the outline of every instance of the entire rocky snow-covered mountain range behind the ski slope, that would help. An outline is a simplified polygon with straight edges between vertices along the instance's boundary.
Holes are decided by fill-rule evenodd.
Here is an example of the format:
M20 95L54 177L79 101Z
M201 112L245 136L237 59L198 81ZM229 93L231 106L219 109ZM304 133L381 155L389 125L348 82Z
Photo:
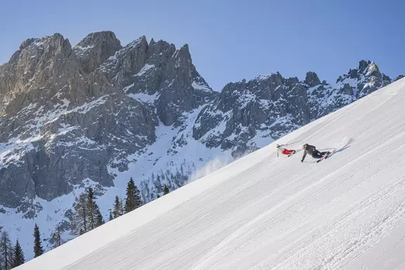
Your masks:
M274 73L214 92L188 46L113 32L71 46L27 39L0 67L0 227L32 257L37 222L69 235L70 208L93 186L105 215L134 177L145 203L391 83L361 61L335 83Z

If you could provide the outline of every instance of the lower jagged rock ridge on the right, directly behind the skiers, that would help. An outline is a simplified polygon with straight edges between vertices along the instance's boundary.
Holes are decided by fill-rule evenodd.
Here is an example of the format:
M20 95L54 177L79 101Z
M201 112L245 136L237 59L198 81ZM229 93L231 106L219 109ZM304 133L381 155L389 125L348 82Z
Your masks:
M257 149L258 137L276 140L390 81L374 62L361 61L335 85L321 83L314 72L308 72L304 81L276 73L229 83L200 112L193 137L210 148L231 149L237 157Z

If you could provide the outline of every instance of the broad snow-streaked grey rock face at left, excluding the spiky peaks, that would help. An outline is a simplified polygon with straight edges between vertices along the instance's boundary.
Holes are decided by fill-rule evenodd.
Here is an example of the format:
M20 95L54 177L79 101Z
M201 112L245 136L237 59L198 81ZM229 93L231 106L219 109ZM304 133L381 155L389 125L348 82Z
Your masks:
M15 208L26 198L18 210L30 212L35 196L52 200L86 178L112 186L107 166L125 170L129 161L119 157L155 140L158 120L146 105L117 90L99 69L86 74L115 50L104 46L105 37L112 42L115 36L93 34L80 43L94 48L89 55L98 56L91 61L77 58L69 41L54 34L25 41L1 66L0 143L27 140L2 157L1 204Z

